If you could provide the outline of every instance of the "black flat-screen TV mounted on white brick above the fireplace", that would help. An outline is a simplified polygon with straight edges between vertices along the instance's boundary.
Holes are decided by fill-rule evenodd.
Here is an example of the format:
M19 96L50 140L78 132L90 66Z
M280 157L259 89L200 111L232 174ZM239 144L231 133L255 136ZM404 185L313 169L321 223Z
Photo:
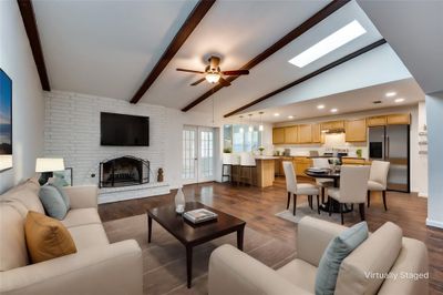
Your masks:
M101 113L101 145L150 146L150 118Z

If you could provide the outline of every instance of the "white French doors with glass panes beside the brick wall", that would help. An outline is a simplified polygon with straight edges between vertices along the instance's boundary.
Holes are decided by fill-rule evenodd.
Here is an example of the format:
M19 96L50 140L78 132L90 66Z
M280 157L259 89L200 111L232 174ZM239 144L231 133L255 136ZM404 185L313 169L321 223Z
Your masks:
M183 129L184 184L214 181L214 129L185 126Z

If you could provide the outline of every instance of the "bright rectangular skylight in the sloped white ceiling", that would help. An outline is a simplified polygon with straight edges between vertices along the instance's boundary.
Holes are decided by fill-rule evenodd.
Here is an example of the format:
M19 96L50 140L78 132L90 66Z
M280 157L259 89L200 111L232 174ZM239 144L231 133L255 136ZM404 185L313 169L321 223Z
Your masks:
M323 40L319 41L317 44L308 48L293 59L289 60L290 63L299 68L311 63L315 60L328 54L329 52L344 45L346 43L352 41L353 39L365 33L367 30L357 20L351 21L340 30L331 33Z

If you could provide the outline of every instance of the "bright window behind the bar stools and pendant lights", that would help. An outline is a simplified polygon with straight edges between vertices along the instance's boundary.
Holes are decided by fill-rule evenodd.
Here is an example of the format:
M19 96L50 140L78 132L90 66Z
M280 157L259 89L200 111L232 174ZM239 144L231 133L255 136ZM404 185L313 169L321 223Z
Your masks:
M261 145L261 132L258 126L253 126L250 131L247 124L225 125L223 138L225 152L253 152Z

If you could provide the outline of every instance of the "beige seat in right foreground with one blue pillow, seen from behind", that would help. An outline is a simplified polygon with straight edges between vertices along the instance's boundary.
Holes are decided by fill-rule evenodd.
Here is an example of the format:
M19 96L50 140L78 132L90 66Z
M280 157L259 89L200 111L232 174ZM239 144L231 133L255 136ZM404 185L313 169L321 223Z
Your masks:
M209 260L209 295L315 294L321 255L329 241L344 228L312 217L302 218L298 225L297 258L277 271L223 245ZM389 276L367 277L377 273ZM423 277L406 277L419 274ZM342 262L334 294L427 294L426 275L425 245L403 237L399 226L385 223Z

